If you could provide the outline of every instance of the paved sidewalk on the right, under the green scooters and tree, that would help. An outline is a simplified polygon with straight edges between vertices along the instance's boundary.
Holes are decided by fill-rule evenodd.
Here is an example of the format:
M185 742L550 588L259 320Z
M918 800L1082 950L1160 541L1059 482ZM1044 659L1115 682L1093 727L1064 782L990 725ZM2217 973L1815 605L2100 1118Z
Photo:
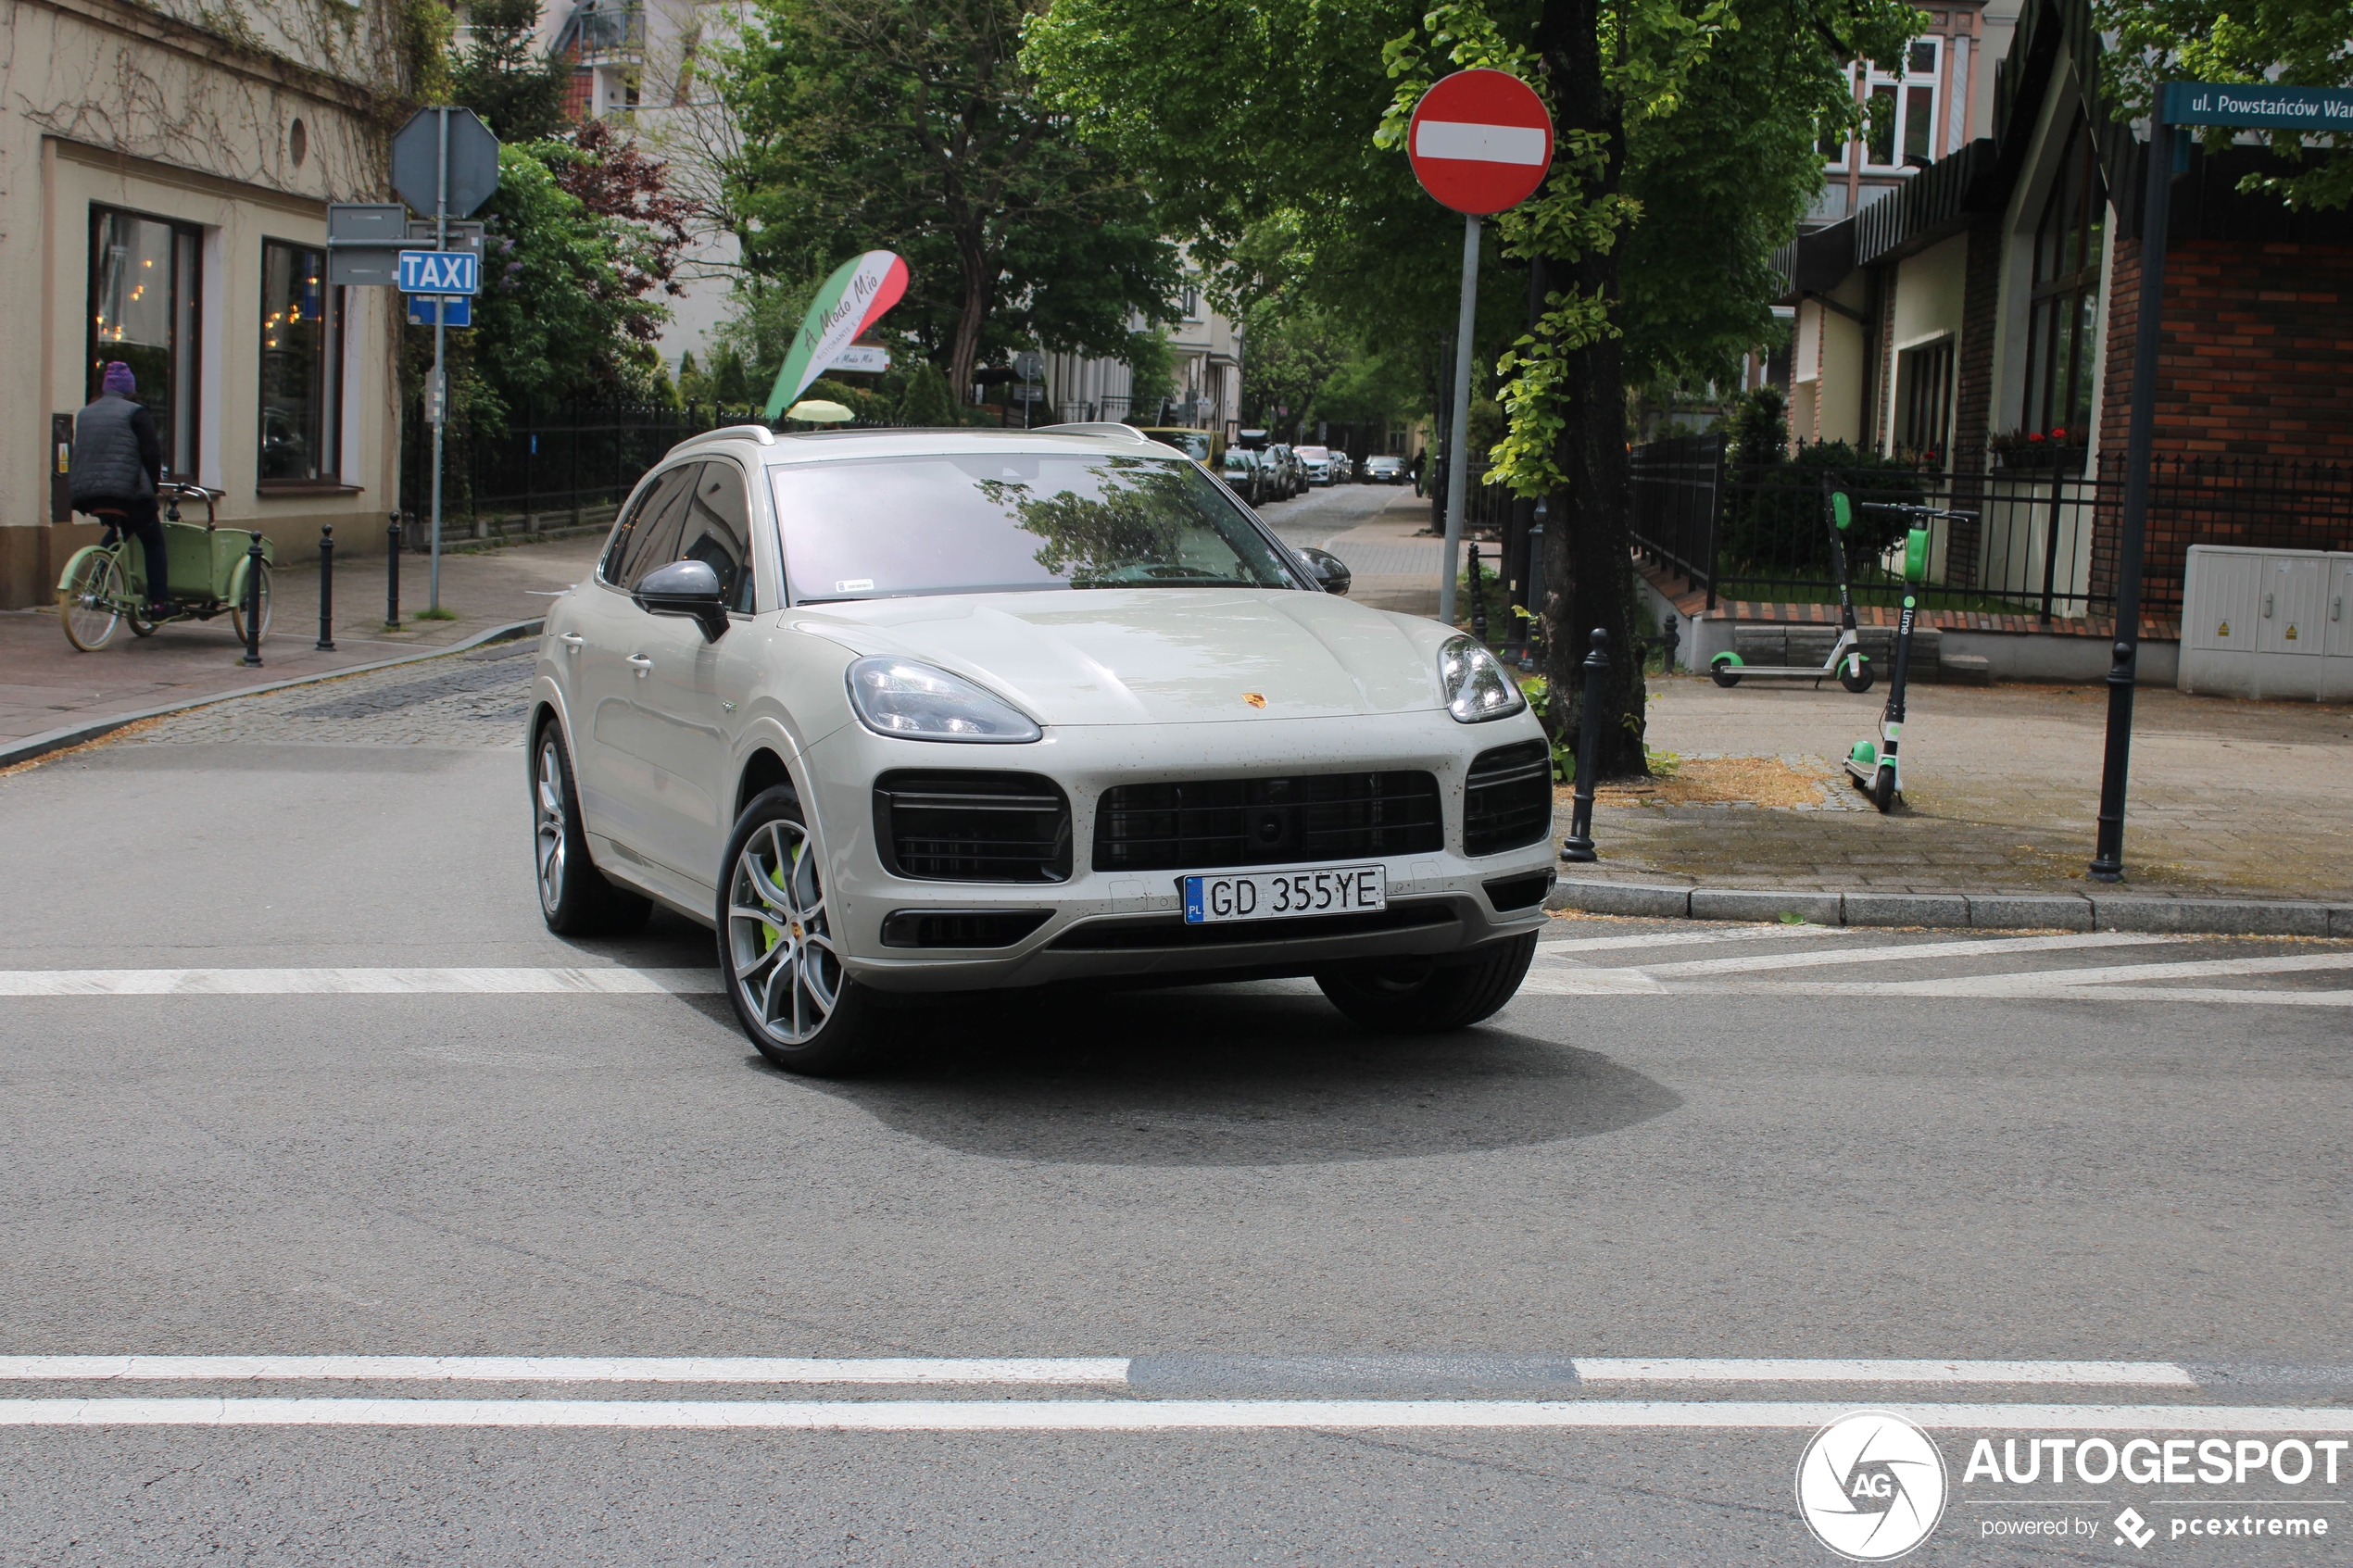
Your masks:
M1701 675L1649 679L1649 745L1673 778L1595 795L1579 882L1819 893L2144 893L2353 903L2353 710L2141 689L2125 884L2092 858L2104 686L1913 686L1904 804L1847 783L1885 686L1852 696ZM1569 792L1560 790L1567 832Z

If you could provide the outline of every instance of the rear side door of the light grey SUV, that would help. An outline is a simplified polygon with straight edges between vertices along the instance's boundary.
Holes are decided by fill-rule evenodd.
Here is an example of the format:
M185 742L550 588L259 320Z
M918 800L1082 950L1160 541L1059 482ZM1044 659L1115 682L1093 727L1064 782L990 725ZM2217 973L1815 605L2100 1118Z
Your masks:
M678 557L685 501L701 463L654 475L631 515L614 529L591 592L579 595L579 696L572 710L572 750L579 769L588 832L619 846L624 875L654 853L647 802L654 795L647 743L640 738L638 684L652 665L645 630L654 623L628 590L654 567Z

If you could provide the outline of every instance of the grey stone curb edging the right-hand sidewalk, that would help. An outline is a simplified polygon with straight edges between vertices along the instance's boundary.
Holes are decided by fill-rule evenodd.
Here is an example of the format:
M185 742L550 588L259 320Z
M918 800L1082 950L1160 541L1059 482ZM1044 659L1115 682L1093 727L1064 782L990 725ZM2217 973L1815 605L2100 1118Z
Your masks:
M2344 936L2353 905L2289 898L2148 898L2078 893L1819 893L1812 889L1678 889L1645 882L1562 882L1546 910L1652 919L1798 914L1814 926L1937 926L1969 931L2148 931L2167 936Z

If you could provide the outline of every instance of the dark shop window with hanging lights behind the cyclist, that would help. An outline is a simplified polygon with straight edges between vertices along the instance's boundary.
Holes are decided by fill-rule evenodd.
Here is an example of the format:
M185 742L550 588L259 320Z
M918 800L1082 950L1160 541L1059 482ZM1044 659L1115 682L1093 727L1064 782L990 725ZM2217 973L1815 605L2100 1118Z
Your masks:
M139 378L155 414L165 473L195 480L198 230L113 207L89 209L89 339L85 402L108 360Z

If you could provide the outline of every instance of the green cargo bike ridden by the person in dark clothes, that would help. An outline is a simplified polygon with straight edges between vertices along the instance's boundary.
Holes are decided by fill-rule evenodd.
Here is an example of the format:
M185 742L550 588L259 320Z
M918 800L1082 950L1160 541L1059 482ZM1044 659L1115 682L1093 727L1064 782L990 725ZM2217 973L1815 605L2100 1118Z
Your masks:
M252 545L259 541L261 611L254 642L261 642L271 635L275 550L261 534L219 527L219 503L226 494L202 484L155 487L155 496L165 503L165 564L172 574L167 621L212 621L226 614L238 642L245 642L249 576L256 564ZM205 522L181 522L181 501L202 501ZM101 510L92 517L106 524L106 538L75 550L56 578L56 618L66 625L66 642L85 654L104 649L125 623L132 637L153 637L160 625L146 616L146 548L122 529L122 512Z

